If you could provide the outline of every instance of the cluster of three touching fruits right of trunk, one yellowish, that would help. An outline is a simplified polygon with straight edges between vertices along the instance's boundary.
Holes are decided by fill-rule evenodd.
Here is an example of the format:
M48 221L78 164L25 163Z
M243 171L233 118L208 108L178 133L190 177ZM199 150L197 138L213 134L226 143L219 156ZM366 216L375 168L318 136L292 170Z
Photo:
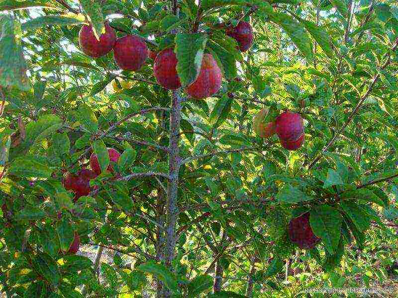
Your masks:
M281 145L288 150L296 150L304 143L304 123L298 113L286 111L274 121L264 123L268 109L261 110L254 118L253 126L261 138L277 134Z

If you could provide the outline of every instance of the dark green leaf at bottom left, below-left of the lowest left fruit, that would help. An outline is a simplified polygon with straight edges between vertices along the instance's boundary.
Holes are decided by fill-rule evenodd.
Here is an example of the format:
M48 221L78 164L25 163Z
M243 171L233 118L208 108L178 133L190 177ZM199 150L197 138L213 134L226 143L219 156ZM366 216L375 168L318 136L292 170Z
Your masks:
M57 262L48 254L39 252L32 260L34 270L45 280L53 285L58 285L61 281L61 273Z

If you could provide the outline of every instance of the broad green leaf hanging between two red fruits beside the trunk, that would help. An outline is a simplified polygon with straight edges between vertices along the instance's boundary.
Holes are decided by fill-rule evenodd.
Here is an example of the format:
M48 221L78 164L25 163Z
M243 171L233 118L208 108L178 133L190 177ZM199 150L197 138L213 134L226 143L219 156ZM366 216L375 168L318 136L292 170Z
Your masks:
M198 78L206 42L207 35L199 33L176 35L174 50L178 60L176 69L183 87L190 85Z

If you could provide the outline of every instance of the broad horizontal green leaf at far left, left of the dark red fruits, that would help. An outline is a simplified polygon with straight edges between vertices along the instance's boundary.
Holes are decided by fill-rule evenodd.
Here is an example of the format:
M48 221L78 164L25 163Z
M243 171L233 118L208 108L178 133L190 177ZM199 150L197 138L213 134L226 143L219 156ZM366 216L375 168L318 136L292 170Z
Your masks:
M50 178L52 172L43 158L34 155L15 158L9 168L10 174L24 177Z

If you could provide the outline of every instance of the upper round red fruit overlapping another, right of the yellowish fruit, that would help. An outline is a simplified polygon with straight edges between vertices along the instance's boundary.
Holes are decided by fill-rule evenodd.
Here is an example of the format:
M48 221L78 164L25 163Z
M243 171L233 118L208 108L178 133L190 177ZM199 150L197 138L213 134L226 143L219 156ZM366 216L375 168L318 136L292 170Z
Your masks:
M275 129L279 139L284 142L295 142L304 133L304 124L299 114L286 111L275 119Z

